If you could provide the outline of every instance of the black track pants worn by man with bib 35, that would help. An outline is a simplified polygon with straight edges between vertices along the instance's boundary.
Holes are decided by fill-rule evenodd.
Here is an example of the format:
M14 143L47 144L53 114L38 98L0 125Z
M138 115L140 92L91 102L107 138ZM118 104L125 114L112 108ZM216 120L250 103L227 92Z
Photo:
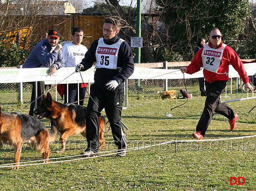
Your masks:
M86 139L88 148L98 152L99 149L99 128L98 116L103 108L111 126L114 142L118 149L126 148L126 137L120 123L122 107L124 102L124 89L107 91L99 89L96 85L91 85L87 110L86 110ZM93 101L93 100L94 101ZM98 106L94 103L98 104Z

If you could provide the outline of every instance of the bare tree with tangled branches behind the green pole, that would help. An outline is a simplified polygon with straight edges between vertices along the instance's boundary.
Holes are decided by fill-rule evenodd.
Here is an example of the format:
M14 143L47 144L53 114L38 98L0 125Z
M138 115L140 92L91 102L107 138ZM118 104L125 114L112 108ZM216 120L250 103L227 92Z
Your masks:
M102 0L98 0L95 3L101 3ZM122 23L122 30L120 36L130 41L130 37L136 36L136 8L134 8L134 0L124 5L122 1L118 0L105 0L106 8L111 16L117 18ZM144 0L144 5L147 5L142 14L142 37L143 47L141 49L141 62L156 62L160 59L161 49L168 43L168 33L165 29L165 24L158 20L159 12L157 12L157 6L155 0ZM136 4L135 4L136 5ZM144 8L144 6L142 5ZM101 12L106 17L109 14ZM161 14L161 12L160 12Z

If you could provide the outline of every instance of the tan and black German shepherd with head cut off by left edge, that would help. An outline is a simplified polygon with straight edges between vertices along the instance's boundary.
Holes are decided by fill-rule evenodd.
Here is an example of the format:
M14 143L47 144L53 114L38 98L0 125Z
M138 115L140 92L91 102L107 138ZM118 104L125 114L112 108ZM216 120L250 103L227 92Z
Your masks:
M0 106L0 148L4 143L14 145L14 167L18 169L22 144L28 142L33 150L42 153L43 162L48 162L50 156L50 142L55 140L57 131L52 126L50 132L40 120L27 115L16 113L2 113Z

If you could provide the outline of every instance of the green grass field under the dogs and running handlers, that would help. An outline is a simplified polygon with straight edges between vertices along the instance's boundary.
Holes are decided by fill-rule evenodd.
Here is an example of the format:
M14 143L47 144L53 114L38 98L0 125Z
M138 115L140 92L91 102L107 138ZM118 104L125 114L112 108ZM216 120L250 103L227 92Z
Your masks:
M186 142L193 139L191 134L195 132L204 99L193 96L186 104L171 111L172 107L185 100L162 100L158 96L129 97L129 108L122 112L122 122L130 129L125 130L128 148L152 147L133 149L124 158L117 158L115 154L89 159L78 156L52 160L78 159L74 161L21 166L19 170L0 168L0 190L255 191L255 137ZM239 115L235 130L230 132L228 119L216 114L204 140L256 134L256 109L248 113L255 105L255 99L228 104ZM166 117L168 112L173 117ZM105 115L104 112L102 114ZM48 124L48 120L43 121ZM107 147L103 151L115 150L111 130L105 138ZM185 141L176 144L176 151L173 143L160 144L171 140ZM71 136L63 154L55 153L60 148L58 136L56 143L50 146L50 158L60 158L79 155L86 148L86 142L80 135ZM0 149L0 164L13 163L13 159L13 149ZM21 161L40 159L41 155L36 151L28 148L22 151ZM230 177L244 177L245 183L230 185Z

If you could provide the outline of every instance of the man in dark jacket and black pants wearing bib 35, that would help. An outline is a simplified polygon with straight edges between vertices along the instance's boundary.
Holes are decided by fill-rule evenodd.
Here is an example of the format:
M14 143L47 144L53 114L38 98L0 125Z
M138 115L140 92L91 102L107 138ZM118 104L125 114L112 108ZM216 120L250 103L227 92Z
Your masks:
M99 149L98 116L105 108L112 135L119 153L126 155L126 136L121 125L121 113L124 102L124 81L134 71L132 50L128 43L118 37L121 24L114 18L106 18L103 25L103 37L95 40L85 54L76 71L86 71L96 62L94 84L86 110L86 139L88 147L81 153L87 157L95 156Z

